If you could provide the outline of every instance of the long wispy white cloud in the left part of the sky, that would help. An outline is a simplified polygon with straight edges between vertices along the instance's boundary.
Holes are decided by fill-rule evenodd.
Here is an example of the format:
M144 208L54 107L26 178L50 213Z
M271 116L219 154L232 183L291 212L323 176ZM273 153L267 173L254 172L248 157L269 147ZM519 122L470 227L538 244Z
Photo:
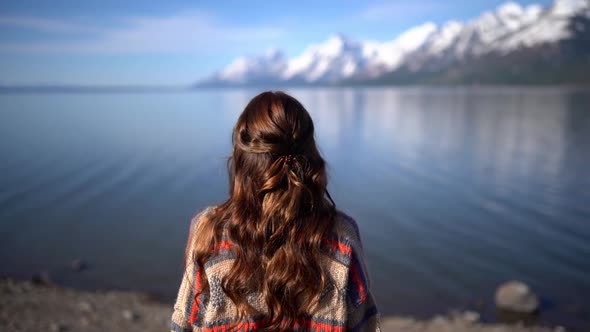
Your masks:
M36 41L0 41L0 52L12 53L204 53L269 47L284 31L271 26L240 27L203 13L167 17L130 17L117 27L84 25L39 17L0 16L0 26L44 35ZM81 38L63 38L83 34ZM51 38L48 38L49 35Z

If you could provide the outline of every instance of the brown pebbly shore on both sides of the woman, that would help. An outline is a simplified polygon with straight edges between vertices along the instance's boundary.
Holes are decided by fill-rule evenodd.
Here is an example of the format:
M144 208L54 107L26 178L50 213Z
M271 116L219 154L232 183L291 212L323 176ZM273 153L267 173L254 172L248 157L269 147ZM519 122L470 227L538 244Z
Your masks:
M171 304L141 293L91 292L0 279L0 331L168 331ZM557 332L562 327L484 324L475 312L430 320L383 317L384 332Z

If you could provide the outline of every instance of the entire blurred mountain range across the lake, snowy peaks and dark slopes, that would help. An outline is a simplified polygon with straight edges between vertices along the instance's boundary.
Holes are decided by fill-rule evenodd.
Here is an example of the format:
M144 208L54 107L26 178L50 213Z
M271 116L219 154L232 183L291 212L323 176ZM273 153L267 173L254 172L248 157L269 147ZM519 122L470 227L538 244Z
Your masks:
M196 86L562 83L590 83L590 0L507 2L384 42L336 34L293 58L278 49L237 58Z

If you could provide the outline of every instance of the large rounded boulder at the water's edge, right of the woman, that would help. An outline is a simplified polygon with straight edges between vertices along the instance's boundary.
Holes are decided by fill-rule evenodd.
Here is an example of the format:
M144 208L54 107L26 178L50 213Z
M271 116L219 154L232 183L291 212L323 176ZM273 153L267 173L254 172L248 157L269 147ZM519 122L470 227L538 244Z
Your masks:
M509 281L496 290L496 306L499 309L530 314L539 309L539 299L528 285L521 281Z

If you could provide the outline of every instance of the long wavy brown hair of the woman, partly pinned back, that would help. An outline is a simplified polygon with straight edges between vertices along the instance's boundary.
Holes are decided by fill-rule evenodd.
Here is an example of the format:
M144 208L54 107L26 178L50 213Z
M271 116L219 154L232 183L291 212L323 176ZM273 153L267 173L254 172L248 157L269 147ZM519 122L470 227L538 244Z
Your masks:
M336 207L326 163L309 113L284 92L254 97L232 143L229 199L199 222L190 258L202 268L226 234L235 260L222 287L236 305L236 323L254 312L247 296L259 292L268 308L262 329L289 330L316 308L327 285L320 253Z

